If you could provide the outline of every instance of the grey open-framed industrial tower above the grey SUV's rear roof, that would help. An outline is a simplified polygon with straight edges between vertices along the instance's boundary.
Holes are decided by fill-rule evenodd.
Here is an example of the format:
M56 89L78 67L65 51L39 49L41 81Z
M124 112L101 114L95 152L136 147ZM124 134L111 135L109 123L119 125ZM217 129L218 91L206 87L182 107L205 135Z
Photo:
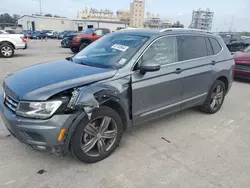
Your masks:
M206 10L194 10L192 16L192 22L189 28L211 30L213 23L214 13L209 9Z

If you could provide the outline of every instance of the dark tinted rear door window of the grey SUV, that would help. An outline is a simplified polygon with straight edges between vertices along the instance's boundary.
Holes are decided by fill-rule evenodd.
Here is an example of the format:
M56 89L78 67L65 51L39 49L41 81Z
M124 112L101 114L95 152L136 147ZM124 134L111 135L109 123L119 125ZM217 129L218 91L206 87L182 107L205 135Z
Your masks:
M182 36L181 41L183 60L207 56L205 37Z

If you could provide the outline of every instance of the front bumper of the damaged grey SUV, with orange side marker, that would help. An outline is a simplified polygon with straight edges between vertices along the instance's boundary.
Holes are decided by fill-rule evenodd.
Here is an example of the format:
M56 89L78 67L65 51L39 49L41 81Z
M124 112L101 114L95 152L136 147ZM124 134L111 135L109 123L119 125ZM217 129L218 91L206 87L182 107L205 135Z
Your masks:
M0 95L0 98L2 98L2 93ZM67 133L79 113L56 114L47 120L22 118L1 101L0 116L9 132L20 142L36 150L66 153L68 151L68 139L70 139ZM58 141L61 129L66 129L66 132L64 138Z

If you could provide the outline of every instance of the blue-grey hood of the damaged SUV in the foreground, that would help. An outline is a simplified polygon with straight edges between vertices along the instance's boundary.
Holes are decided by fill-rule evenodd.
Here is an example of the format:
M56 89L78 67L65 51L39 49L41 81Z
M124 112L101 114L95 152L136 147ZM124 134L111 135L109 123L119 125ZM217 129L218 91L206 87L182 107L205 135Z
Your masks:
M46 100L61 91L111 78L116 72L64 59L18 70L5 78L4 89L18 100Z

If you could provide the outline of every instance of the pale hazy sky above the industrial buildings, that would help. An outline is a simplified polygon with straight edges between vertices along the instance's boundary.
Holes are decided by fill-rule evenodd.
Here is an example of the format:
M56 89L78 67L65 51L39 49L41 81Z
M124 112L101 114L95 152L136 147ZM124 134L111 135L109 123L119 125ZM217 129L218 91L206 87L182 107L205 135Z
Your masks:
M97 9L129 9L132 0L41 0L42 12L75 19L85 7ZM58 3L60 2L60 3ZM188 27L192 11L206 9L214 12L213 31L250 31L250 0L146 0L146 11L159 14L171 22L180 21ZM0 0L0 13L39 13L39 0Z

